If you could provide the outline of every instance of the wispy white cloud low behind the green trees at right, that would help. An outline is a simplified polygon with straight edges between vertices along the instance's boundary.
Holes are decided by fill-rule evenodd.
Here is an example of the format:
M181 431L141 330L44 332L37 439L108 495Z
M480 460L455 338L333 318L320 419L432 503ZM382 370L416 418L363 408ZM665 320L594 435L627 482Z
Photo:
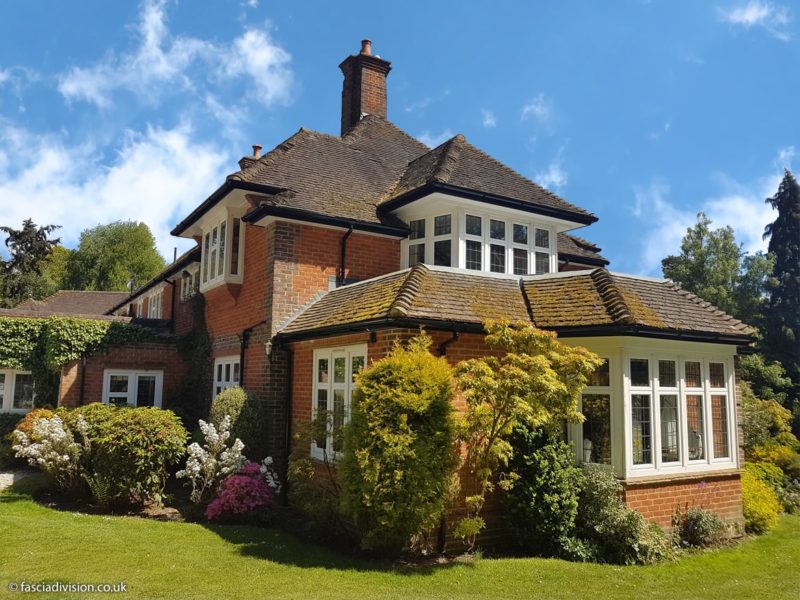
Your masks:
M782 149L779 160L789 154ZM722 173L714 174L712 179L718 191L693 209L679 208L671 202L670 188L664 181L635 188L633 214L644 227L638 271L660 275L661 259L679 252L681 240L696 223L698 212L704 212L714 228L732 227L745 252L766 251L764 228L775 220L776 213L764 200L775 194L782 176L780 169L770 169L768 175L742 183Z

